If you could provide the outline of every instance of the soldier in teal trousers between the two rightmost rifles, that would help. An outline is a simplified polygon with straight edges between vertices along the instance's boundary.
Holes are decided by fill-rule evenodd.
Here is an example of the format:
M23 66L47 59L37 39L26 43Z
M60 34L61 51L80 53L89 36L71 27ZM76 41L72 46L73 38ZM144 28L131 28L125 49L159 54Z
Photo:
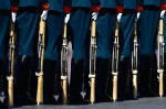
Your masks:
M142 0L143 1L143 0ZM151 64L154 53L154 43L159 21L162 0L144 0L144 10L141 15L141 66L139 66L139 96L152 97L156 94L151 88Z

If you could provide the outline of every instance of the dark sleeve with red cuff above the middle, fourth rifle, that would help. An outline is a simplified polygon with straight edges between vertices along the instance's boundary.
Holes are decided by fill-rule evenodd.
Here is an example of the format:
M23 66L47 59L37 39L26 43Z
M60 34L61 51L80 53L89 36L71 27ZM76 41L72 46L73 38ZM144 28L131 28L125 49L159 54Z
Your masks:
M101 10L100 0L92 0L92 12L98 12Z

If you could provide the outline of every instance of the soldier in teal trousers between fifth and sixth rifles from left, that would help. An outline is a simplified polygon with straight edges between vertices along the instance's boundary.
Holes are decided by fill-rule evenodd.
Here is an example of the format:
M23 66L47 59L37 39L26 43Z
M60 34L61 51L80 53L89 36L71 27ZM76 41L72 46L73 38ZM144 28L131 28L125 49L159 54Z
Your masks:
M129 95L129 70L131 70L131 42L136 18L136 9L139 0L118 0L117 20L120 22L120 75L118 75L118 100L132 99Z

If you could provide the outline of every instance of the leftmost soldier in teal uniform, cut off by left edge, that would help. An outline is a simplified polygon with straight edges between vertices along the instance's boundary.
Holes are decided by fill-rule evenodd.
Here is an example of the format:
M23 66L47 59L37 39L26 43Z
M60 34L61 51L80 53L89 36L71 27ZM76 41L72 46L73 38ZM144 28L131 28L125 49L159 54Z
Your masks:
M8 50L8 40L9 40L9 26L10 26L10 20L11 20L11 12L14 12L18 10L18 7L14 4L14 0L0 0L0 74L2 74L4 70L4 58L7 55ZM12 6L12 7L11 7ZM13 17L12 17L13 18ZM15 20L12 19L14 22ZM7 95L6 95L7 96ZM7 108L2 105L0 101L0 108Z

